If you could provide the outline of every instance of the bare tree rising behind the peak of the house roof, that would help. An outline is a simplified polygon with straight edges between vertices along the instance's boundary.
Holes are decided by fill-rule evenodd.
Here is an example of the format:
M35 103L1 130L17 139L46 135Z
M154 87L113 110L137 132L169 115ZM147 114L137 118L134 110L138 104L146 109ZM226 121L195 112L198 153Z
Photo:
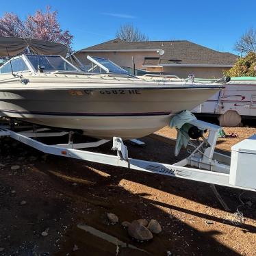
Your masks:
M127 42L149 41L149 37L132 24L121 25L116 31L116 37Z

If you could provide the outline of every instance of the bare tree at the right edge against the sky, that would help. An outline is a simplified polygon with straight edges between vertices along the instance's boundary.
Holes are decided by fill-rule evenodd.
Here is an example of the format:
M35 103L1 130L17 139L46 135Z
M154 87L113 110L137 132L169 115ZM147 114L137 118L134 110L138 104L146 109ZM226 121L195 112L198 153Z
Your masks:
M235 51L238 51L241 53L250 53L250 52L256 52L256 29L251 28L248 29L238 40L238 42L235 42Z

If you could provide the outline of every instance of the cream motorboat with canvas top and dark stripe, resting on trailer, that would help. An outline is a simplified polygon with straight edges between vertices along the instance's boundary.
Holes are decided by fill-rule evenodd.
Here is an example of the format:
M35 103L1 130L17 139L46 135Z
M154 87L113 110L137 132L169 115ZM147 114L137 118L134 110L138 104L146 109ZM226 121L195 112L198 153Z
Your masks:
M81 71L62 55L53 55L54 51L64 53L62 44L18 40L23 48L10 43L15 38L0 38L0 55L15 54L27 46L40 55L18 55L1 66L0 116L29 123L79 130L94 138L140 138L224 88L222 84L138 79L109 60L90 56L87 71Z

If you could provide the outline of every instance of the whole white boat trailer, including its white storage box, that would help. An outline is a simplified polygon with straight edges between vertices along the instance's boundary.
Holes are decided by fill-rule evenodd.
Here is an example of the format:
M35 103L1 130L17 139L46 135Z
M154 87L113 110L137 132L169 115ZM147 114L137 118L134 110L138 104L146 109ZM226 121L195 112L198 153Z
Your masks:
M203 140L197 140L197 144L194 143L194 140L190 140L190 148L192 147L194 150L190 152L188 157L175 164L162 164L129 158L127 146L125 146L122 138L118 137L113 138L112 145L112 150L116 151L116 155L84 150L100 146L110 140L74 143L73 131L56 132L47 128L13 131L10 127L1 126L0 137L9 136L14 140L51 155L256 191L256 135L232 146L231 157L229 157L214 151L221 127L201 120L192 120L189 123L199 127L199 129L207 129L208 136ZM37 140L37 138L41 137L58 137L67 134L68 143L66 144L49 145ZM133 140L133 143L140 144L141 142Z

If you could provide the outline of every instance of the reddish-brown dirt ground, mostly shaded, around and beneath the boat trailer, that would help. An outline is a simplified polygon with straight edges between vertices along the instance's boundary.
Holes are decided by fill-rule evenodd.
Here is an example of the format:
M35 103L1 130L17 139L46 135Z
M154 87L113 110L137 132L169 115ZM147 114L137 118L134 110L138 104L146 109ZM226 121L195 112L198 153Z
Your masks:
M239 137L220 139L222 149L256 133L225 131ZM159 133L175 136L169 128ZM146 146L127 142L130 157L172 163L186 154L174 157L170 145L142 141ZM111 146L94 151L114 154ZM0 255L255 255L255 192L217 187L231 209L225 212L207 183L45 155L10 138L0 149ZM237 208L243 218L234 215ZM118 224L110 225L107 212ZM158 220L162 233L132 240L120 222L138 218ZM118 248L78 229L81 222L144 251Z

